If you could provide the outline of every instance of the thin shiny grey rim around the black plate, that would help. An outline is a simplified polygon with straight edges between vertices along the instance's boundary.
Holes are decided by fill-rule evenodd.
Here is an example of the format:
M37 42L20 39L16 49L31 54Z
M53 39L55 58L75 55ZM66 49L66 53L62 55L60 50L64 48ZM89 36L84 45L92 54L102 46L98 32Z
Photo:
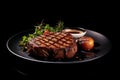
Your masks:
M79 27L79 28L81 28L81 27ZM74 63L89 62L89 61L93 61L93 60L99 59L99 58L101 58L102 56L104 56L104 55L107 54L107 53L105 53L105 54L100 55L100 56L96 56L96 57L93 57L93 58L89 58L89 59L85 59L85 60L80 60L80 61L65 61L65 62L64 62L64 61L45 61L45 60L31 59L31 58L27 58L27 57L21 56L21 55L15 53L14 51L12 51L12 50L10 49L10 47L9 47L9 41L10 41L11 39L13 39L14 37L16 37L17 35L19 35L19 34L21 34L21 33L28 32L28 31L32 31L32 30L33 30L33 29L24 30L24 31L21 31L21 32L16 33L15 35L11 36L11 37L7 40L7 42L6 42L6 47L7 47L8 51L10 51L10 53L12 53L13 55L15 55L16 57L22 58L22 59L25 59L25 60L28 60L28 61L33 61L33 62L38 62L38 63L39 63L39 62L41 62L41 63L53 63L53 64L74 64ZM93 30L90 30L90 29L86 29L86 30L87 30L87 31L88 31L88 30L89 30L89 31L93 31ZM94 32L96 32L96 31L94 31ZM101 34L101 33L99 33L99 32L96 32L96 33L98 33L98 34L100 34L100 35L103 35L103 34ZM103 36L109 41L109 43L111 43L110 40L109 40L105 35L103 35ZM111 45L111 44L110 44L110 45Z

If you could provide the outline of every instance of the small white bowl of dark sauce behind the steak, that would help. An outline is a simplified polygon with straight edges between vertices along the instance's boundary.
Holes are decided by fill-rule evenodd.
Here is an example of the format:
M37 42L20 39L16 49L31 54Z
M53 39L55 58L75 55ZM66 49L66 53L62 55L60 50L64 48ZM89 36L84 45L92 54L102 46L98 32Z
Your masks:
M86 30L80 27L66 28L63 32L70 33L74 38L80 38L86 34Z

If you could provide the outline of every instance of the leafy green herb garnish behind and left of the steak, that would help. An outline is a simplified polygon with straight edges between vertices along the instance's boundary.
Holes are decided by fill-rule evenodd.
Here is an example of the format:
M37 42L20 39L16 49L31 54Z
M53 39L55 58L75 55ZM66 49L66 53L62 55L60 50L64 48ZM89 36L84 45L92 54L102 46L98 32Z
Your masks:
M56 26L50 26L49 24L44 24L41 22L39 25L35 26L34 33L28 34L27 36L22 36L19 46L22 46L23 49L27 49L26 45L30 39L35 38L36 36L43 35L46 31L49 32L61 32L64 27L63 21L59 21Z

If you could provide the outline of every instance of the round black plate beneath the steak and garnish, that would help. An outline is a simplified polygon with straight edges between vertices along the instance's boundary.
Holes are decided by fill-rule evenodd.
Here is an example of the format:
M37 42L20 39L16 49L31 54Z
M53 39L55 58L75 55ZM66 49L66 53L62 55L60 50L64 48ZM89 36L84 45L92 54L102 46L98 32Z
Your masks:
M96 32L96 31L92 31L92 30L87 30L87 33L85 36L90 36L93 37L95 40L95 46L94 49L87 52L87 51L83 51L80 48L80 45L78 45L78 52L76 53L76 56L71 59L71 60L66 60L66 61L52 61L52 60L44 60L44 59L37 59L33 56L30 56L29 53L23 52L23 50L21 49L21 47L19 47L19 41L21 39L21 37L23 35L28 35L29 33L33 33L33 30L28 30L28 31L24 31L24 32L20 32L16 35L13 35L11 38L9 38L9 40L6 43L6 46L8 48L8 50L22 58L22 59L26 59L26 60L30 60L30 61L35 61L35 62L42 62L42 63L81 63L81 62L88 62L88 61L92 61L95 59L98 59L102 56L104 56L106 53L108 53L111 49L111 44L110 41L108 40L107 37L105 37L104 35Z

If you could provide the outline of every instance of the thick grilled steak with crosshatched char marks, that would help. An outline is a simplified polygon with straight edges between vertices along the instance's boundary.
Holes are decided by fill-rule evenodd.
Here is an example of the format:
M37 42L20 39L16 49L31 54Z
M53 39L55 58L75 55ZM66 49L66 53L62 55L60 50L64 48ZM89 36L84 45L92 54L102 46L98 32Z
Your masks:
M69 33L50 32L31 39L27 44L27 51L40 57L72 58L77 52L77 44Z

